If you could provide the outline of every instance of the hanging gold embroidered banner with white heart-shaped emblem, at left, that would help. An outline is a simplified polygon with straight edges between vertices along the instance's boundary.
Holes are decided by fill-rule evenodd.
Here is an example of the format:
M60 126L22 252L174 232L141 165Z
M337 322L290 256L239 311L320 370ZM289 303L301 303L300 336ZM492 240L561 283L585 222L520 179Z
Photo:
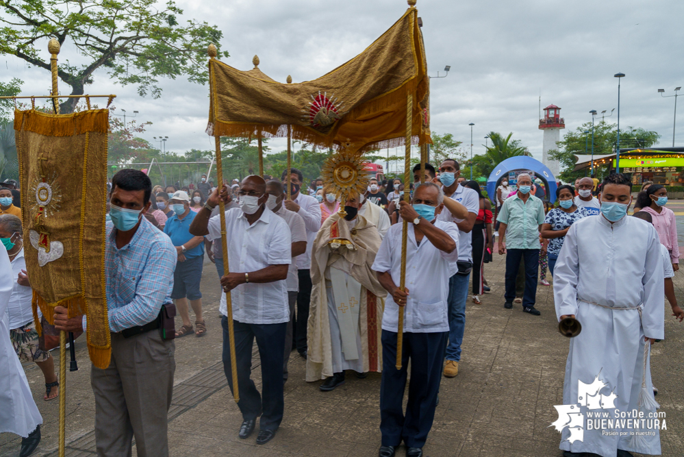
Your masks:
M15 111L26 268L37 307L86 314L90 360L110 363L105 295L108 110Z

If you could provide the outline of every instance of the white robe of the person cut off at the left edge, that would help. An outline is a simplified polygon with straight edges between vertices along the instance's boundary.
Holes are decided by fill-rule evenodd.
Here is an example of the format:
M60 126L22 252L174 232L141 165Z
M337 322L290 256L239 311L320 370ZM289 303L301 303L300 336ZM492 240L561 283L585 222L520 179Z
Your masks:
M7 306L13 283L7 249L0 245L0 432L26 438L42 423L42 417L10 341Z

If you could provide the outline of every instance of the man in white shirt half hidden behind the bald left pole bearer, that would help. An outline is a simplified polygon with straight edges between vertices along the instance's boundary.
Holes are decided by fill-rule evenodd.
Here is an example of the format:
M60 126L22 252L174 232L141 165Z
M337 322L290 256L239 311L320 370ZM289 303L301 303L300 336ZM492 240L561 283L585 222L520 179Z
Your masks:
M283 200L286 198L283 184L279 181L269 181L266 183L266 193L268 200L266 200L266 208L275 212L278 216L285 219L290 227L292 234L292 263L288 268L288 304L290 305L290 321L288 321L288 330L285 334L285 360L283 361L283 381L288 380L288 361L290 360L290 352L292 352L292 317L294 316L294 304L297 301L297 292L299 291L299 278L297 277L297 264L294 259L300 254L306 252L306 228L304 226L304 219L297 214L286 209L283 206Z

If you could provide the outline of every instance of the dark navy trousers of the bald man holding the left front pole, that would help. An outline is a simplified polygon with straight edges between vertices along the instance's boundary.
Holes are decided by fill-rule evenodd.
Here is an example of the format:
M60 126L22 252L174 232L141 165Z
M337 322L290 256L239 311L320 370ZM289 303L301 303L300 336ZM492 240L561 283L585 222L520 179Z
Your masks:
M228 318L221 318L223 326L223 371L233 391ZM240 402L238 408L245 421L256 419L261 430L277 430L283 420L283 345L288 323L253 324L233 321L235 333L235 356L238 369ZM262 362L262 394L259 395L250 375L252 371L252 347L257 338L259 358Z

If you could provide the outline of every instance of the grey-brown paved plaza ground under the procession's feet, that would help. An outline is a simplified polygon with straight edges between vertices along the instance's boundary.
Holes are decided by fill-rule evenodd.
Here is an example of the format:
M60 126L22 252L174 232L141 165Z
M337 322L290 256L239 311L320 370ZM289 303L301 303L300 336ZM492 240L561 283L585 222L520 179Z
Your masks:
M684 202L673 201L668 207L684 215ZM678 223L683 220L678 217ZM680 236L684 240L683 230ZM557 332L550 287L537 288L541 317L523 313L520 305L503 308L504 264L504 257L495 255L494 263L485 265L492 292L481 305L468 301L459 374L442 378L426 456L561 456L560 435L549 425L557 419L553 406L563 403L568 340ZM680 304L683 275L674 277ZM344 386L324 393L318 390L320 383L304 381L305 361L296 351L285 386L285 417L275 439L262 446L255 444L256 433L238 439L242 418L220 362L218 275L208 261L202 291L208 334L176 341L173 406L168 413L171 456L377 456L380 375L372 373L365 380L348 375ZM651 369L668 425L661 432L662 455L679 457L684 455L684 323L674 321L667 302L665 329L666 340L653 347ZM68 373L66 384L66 455L86 457L94 455L94 401L87 349L84 341L76 346L80 369ZM58 358L58 351L53 355ZM259 386L261 371L258 358L254 360L253 379ZM44 419L34 455L56 456L58 400L42 400L45 389L36 365L25 365L25 370ZM18 450L16 435L0 435L0 456L18 456ZM397 456L404 453L402 447Z

